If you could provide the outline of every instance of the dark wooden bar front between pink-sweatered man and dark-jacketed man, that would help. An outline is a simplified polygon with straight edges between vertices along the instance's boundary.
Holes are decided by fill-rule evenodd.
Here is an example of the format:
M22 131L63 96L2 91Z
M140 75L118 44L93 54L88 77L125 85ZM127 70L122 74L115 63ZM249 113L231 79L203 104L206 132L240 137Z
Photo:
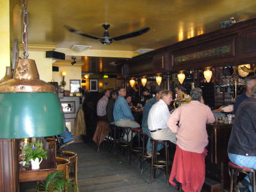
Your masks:
M206 125L209 144L208 155L205 157L204 191L219 192L229 188L227 149L231 129L230 124Z

